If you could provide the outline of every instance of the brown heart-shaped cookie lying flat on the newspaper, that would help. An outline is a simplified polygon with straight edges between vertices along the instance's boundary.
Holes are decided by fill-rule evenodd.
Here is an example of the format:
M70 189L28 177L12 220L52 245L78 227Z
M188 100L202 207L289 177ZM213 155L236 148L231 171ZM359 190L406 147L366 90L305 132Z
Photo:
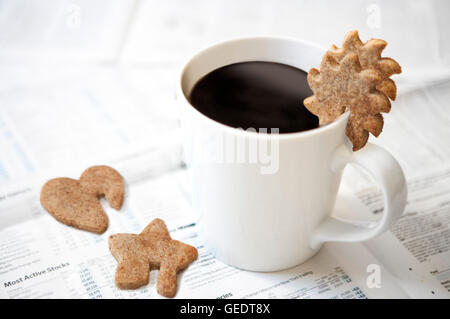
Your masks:
M116 170L93 166L79 180L66 177L49 180L42 187L41 204L58 221L101 234L108 228L108 217L99 199L105 196L111 207L120 209L123 194L123 179Z

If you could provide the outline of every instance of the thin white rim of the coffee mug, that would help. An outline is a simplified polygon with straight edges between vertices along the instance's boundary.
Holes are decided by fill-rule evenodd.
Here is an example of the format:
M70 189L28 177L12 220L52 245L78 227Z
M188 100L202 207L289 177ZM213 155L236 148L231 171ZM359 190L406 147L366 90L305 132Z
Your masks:
M221 130L224 130L227 133L230 134L235 134L238 136L242 136L242 137L259 137L259 138L277 138L279 140L282 139L295 139L295 138L302 138L302 137L309 137L312 135L318 135L320 133L323 133L325 131L331 130L336 126L340 126L342 122L346 122L348 120L348 117L350 116L350 111L346 111L343 114L341 114L337 119L335 119L333 122L325 124L323 126L319 126L310 130L306 130L306 131L300 131L300 132L291 132L291 133L279 133L279 134L269 134L269 133L259 133L259 132L253 132L253 131L247 131L247 130L243 130L243 129L238 129L236 127L232 127L232 126L228 126L226 124L223 124L221 122L218 122L208 116L206 116L205 114L203 114L202 112L200 112L199 110L197 110L192 103L189 101L189 99L186 97L186 95L184 94L183 91L183 77L184 74L186 72L187 67L189 66L189 64L191 63L192 60L194 60L196 57L198 57L199 55L203 54L205 51L212 49L214 47L218 47L224 44L231 44L233 42L238 42L238 41L251 41L251 40L267 40L267 41L286 41L286 42L295 42L295 43L301 43L303 45L306 46L311 46L311 47L315 47L321 51L323 51L325 53L325 49L315 43L312 43L310 41L306 41L306 40L302 40L302 39L297 39L297 38L293 38L293 37L282 37L282 36L251 36L251 37L237 37L237 38L232 38L232 39L228 39L228 40L222 40L222 41L218 41L216 43L210 44L208 46L203 47L202 49L196 51L196 53L192 54L184 63L183 66L181 67L181 70L178 72L178 84L177 84L177 96L180 96L181 99L183 99L183 102L185 102L189 109L191 111L194 111L194 114L199 117L200 119L202 119L204 122L210 124L210 125L216 125L217 128L220 128ZM250 61L242 61L242 62L250 62ZM236 62L239 63L239 62ZM287 64L289 65L289 64ZM209 72L212 72L214 70L211 70ZM267 128L269 129L269 128Z

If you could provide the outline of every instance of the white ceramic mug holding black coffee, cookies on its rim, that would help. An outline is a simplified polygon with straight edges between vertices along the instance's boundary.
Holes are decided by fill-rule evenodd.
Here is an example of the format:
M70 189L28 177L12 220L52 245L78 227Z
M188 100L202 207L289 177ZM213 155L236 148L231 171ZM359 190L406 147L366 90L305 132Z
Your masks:
M242 38L200 51L181 70L177 96L193 208L204 245L229 265L254 271L290 268L312 257L324 242L373 238L403 213L407 191L399 164L370 143L353 152L345 135L348 113L323 127L277 135L228 127L189 103L195 83L219 67L270 61L308 71L319 66L323 54L322 48L294 39ZM224 160L226 140L248 154L255 145L268 144L278 161L275 169L264 172L267 161L254 158ZM330 216L347 163L365 169L384 192L385 210L372 228Z

